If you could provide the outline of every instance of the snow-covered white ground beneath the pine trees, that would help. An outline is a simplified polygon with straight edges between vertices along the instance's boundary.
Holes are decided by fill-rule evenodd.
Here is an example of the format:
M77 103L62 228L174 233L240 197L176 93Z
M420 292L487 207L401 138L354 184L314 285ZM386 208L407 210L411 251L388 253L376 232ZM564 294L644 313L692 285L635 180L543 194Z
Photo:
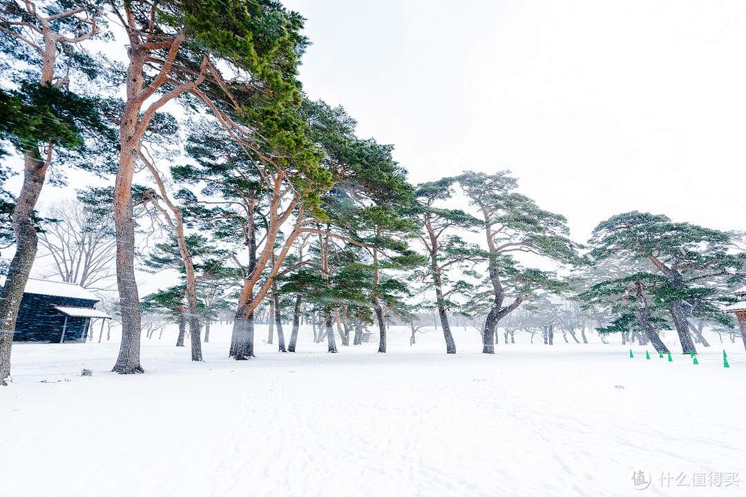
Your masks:
M694 365L630 358L618 337L518 336L490 356L474 329L454 335L456 355L404 328L386 354L328 354L303 329L280 354L260 327L257 358L237 362L213 326L193 364L169 329L143 339L134 376L109 372L116 341L16 344L0 496L746 495L738 341L707 335Z

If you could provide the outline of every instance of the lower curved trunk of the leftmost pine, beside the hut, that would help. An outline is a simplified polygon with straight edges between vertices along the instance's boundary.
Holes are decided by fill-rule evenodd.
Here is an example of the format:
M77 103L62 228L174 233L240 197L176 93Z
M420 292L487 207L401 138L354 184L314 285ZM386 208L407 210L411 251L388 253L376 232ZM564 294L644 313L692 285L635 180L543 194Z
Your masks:
M10 376L10 349L13 346L18 308L26 288L28 273L37 256L38 238L32 215L48 168L48 161L40 159L38 153L26 152L23 159L23 186L13 208L16 254L10 262L5 284L0 291L0 385L7 384Z

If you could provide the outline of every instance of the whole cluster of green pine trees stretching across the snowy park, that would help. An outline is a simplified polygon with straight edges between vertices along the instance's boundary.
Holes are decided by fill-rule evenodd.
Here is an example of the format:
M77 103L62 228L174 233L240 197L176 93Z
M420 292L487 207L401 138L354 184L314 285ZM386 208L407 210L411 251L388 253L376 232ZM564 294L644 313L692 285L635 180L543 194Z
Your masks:
M303 94L303 22L274 0L0 0L0 180L7 156L23 159L19 194L0 191L0 236L16 246L0 294L0 383L44 223L37 199L72 167L112 179L80 194L116 228L118 373L143 372L143 308L172 313L182 341L189 329L194 361L201 321L228 301L236 359L254 355L268 301L283 352L295 350L302 309L321 317L330 352L333 326L347 345L366 323L386 352L387 317L411 320L422 288L436 294L448 353L449 314L482 316L492 353L498 323L539 295L573 293L605 331L639 328L659 349L663 323L688 352L689 317L727 320L717 304L746 260L735 234L630 212L599 224L586 250L509 171L413 186L391 145L358 138L342 107ZM125 63L95 53L101 41ZM170 238L145 265L183 279L141 299L136 234L147 219ZM539 259L554 269L527 267Z

